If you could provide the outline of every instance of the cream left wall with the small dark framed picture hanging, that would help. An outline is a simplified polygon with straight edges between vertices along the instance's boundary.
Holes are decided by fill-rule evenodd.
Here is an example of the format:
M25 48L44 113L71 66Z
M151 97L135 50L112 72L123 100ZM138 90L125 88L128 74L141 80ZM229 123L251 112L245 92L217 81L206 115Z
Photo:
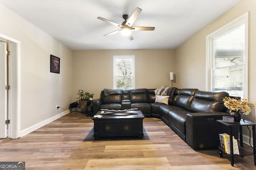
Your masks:
M68 108L72 50L2 4L0 23L0 34L20 41L20 130L24 130L58 115L56 105ZM50 73L50 54L60 57L60 74Z

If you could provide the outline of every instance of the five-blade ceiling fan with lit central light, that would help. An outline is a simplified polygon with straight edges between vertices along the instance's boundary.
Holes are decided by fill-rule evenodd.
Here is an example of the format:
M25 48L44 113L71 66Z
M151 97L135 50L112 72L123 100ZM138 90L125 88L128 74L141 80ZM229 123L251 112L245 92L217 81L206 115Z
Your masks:
M112 34L116 34L118 32L121 32L124 36L128 36L128 38L130 40L133 40L133 37L132 37L132 34L131 34L131 31L154 31L155 28L154 27L138 27L138 26L132 26L132 24L134 23L134 21L137 19L137 17L139 16L140 12L142 11L142 9L140 8L136 8L134 10L134 12L132 13L132 15L130 16L130 18L128 19L128 15L127 14L124 14L123 15L123 18L124 18L124 22L122 24L117 24L116 22L112 22L110 20L107 20L105 18L101 18L101 17L98 17L99 20L102 20L102 21L105 21L105 22L108 22L109 24L112 24L114 26L118 26L119 30L116 30L114 32L110 32L104 36L109 36L109 35L112 35Z

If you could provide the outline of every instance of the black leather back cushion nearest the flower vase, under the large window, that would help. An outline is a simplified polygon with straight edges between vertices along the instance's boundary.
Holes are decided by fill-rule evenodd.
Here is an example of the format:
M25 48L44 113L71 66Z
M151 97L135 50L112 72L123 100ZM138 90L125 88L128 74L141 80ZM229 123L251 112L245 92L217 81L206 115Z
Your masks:
M226 92L196 91L190 106L192 112L225 111L223 98L229 96Z

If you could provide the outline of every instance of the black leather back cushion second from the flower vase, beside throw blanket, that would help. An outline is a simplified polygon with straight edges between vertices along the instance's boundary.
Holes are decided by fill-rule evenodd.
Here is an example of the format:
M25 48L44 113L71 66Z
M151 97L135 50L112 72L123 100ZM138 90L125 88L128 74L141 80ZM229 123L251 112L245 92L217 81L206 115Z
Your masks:
M178 95L176 95L175 91L172 105L189 110L196 91L198 91L198 89L180 89L177 91Z

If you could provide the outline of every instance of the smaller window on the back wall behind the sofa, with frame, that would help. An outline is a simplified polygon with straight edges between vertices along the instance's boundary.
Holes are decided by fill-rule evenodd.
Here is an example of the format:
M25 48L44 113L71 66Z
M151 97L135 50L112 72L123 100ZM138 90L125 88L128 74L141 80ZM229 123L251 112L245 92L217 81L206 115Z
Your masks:
M114 55L113 67L113 88L135 89L134 55Z

